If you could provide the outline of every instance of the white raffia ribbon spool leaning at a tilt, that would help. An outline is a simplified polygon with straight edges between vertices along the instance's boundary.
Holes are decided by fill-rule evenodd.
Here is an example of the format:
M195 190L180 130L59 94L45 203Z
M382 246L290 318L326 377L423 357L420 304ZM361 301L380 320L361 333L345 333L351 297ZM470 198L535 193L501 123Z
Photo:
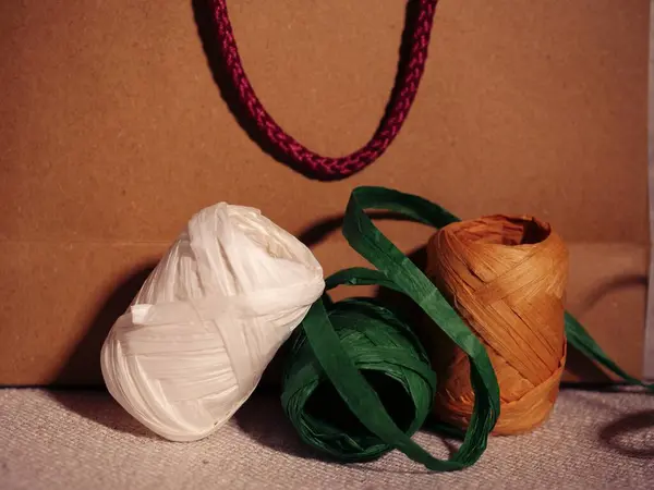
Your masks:
M252 394L324 287L311 250L259 210L206 208L109 332L107 388L159 436L205 438Z

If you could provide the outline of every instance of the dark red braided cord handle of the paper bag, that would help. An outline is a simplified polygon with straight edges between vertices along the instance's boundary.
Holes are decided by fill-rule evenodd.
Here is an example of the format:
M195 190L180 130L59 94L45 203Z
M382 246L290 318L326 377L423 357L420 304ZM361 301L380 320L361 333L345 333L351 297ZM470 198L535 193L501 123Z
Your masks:
M396 86L390 95L386 114L373 137L359 150L339 158L322 157L286 133L266 111L243 70L237 40L227 11L227 0L213 0L214 20L219 37L222 61L240 102L256 123L262 135L295 168L319 179L342 179L362 170L386 151L400 132L415 99L425 70L429 36L438 0L417 0L417 15L411 26L409 52L400 63Z

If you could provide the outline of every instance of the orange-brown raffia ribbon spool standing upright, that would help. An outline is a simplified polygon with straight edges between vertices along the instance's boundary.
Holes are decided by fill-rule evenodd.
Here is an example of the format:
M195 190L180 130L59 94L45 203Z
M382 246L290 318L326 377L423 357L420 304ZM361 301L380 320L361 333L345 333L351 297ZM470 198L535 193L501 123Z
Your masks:
M484 343L500 389L494 434L516 434L549 416L566 362L564 305L568 250L549 224L489 216L449 224L427 245L427 275ZM467 427L474 395L465 354L432 343L435 412Z

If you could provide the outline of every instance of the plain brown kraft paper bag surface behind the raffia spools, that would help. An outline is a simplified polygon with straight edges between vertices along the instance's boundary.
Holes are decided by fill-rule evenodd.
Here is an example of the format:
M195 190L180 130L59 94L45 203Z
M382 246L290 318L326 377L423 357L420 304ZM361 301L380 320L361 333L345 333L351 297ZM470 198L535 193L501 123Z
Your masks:
M278 122L330 156L365 143L393 83L404 2L229 5ZM0 383L100 382L101 340L147 267L219 200L301 235L326 272L362 264L335 220L361 184L463 218L550 221L571 250L570 309L640 373L647 0L443 0L400 136L331 183L275 161L241 127L207 63L207 15L201 0L0 3ZM382 226L407 252L429 235Z

